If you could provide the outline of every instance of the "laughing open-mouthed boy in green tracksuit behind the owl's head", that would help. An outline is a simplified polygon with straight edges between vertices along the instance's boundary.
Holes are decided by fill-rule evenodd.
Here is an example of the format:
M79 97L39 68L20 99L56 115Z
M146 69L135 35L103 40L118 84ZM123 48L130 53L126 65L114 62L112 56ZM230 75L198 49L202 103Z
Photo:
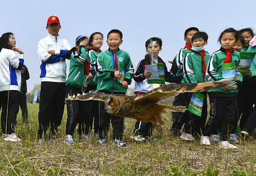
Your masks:
M111 30L107 36L109 50L101 52L97 58L98 84L97 90L105 94L125 95L128 85L133 79L134 68L130 55L119 49L122 43L122 32L116 29ZM118 78L124 75L124 81L119 82ZM114 145L126 146L123 142L124 119L108 114L104 109L104 102L99 105L99 140L97 143L104 144L110 128L110 120L113 127Z

